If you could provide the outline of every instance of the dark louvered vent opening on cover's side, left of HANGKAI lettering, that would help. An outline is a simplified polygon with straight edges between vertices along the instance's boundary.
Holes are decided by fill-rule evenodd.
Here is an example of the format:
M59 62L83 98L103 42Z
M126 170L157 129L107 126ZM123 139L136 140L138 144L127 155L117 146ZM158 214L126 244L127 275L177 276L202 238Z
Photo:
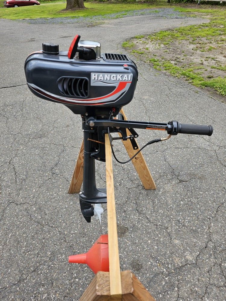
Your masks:
M80 77L61 77L58 88L64 95L86 98L88 96L88 79Z

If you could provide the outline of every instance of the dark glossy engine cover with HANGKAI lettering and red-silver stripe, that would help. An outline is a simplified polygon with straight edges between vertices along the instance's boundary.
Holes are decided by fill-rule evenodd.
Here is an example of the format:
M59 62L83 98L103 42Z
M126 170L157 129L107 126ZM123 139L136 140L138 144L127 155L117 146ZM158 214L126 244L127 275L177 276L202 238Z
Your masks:
M67 52L34 52L25 61L27 85L36 96L69 107L75 114L105 116L132 98L137 67L131 60L69 59Z

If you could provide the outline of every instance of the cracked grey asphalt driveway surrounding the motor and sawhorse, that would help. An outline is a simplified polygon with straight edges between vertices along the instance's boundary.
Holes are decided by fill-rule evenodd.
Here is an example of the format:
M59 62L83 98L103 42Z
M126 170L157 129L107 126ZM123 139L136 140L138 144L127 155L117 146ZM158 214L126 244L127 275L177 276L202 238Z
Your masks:
M1 194L0 299L79 300L93 278L67 257L86 252L106 233L86 223L78 195L67 190L82 140L80 116L31 94L24 61L42 42L67 50L75 34L102 52L125 52L139 34L198 24L199 18L137 16L79 24L0 20ZM131 163L113 161L121 269L131 269L156 301L224 301L226 293L225 104L206 92L137 62L130 120L212 124L211 137L178 135L143 151L156 191L146 191ZM142 146L159 132L138 131ZM116 154L126 159L120 141ZM105 187L105 165L96 164Z

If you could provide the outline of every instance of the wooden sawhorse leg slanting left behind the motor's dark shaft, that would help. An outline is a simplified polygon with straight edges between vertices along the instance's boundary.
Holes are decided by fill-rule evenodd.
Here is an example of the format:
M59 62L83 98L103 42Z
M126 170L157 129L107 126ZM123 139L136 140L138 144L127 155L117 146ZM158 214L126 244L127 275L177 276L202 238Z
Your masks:
M83 182L83 162L84 162L84 141L80 147L78 159L71 178L71 184L68 193L79 193Z

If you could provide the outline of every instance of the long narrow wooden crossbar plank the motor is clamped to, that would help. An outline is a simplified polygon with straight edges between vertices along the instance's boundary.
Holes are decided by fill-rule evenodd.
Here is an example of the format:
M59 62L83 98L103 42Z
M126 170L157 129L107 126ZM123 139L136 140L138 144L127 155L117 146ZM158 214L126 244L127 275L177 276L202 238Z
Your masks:
M113 168L111 146L108 134L105 134L106 157L106 186L107 186L107 213L108 213L108 254L110 273L111 300L121 300L122 286L118 252L118 234L115 211L115 191L113 180Z

